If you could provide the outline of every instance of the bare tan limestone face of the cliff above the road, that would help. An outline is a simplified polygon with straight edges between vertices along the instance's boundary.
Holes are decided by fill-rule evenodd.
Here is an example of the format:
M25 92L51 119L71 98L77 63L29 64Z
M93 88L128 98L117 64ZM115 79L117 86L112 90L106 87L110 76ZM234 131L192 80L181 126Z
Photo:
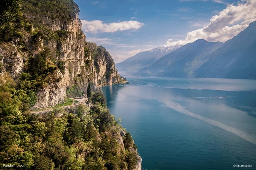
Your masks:
M28 20L33 21L34 16L26 13L25 15ZM12 43L0 44L0 72L9 72L15 79L18 79L20 73L26 69L29 56L36 57L45 49L49 51L47 61L53 61L55 67L58 62L62 63L62 70L58 67L57 71L52 73L53 77L58 77L58 80L47 81L47 84L44 83L37 88L38 101L34 108L54 106L63 102L67 90L69 97L87 97L88 91L99 92L102 86L126 81L118 74L114 60L106 49L86 41L78 12L67 20L43 17L42 20L48 32L59 35L58 39L45 38L46 35L39 34L41 30L37 28L35 31L32 25L32 31L24 34L23 37L25 46L30 52L20 52L21 46L15 40Z

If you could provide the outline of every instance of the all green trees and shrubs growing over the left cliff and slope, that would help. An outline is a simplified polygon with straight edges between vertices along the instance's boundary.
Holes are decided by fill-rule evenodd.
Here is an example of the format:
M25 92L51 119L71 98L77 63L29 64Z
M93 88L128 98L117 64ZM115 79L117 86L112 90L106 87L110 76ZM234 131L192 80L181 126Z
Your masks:
M51 27L53 22L65 24L74 19L78 6L73 0L0 2L0 43L15 46L24 61L23 73L18 78L13 80L7 74L0 77L0 166L15 163L27 165L19 169L38 170L133 169L137 153L132 137L128 132L121 137L122 127L107 109L103 94L91 90L90 82L87 92L78 85L67 88L69 97L87 93L94 104L90 109L80 104L63 110L61 106L74 102L67 99L52 112L37 115L28 111L37 101L37 89L62 79L65 61L60 60L58 47L70 32L53 31ZM57 48L50 49L49 43ZM98 47L95 52L92 59L100 59L105 48ZM85 57L89 55L90 49L85 46ZM91 63L87 60L86 67L91 68ZM95 67L99 71L99 66ZM71 68L69 72L73 74ZM83 81L84 75L77 75L75 82Z

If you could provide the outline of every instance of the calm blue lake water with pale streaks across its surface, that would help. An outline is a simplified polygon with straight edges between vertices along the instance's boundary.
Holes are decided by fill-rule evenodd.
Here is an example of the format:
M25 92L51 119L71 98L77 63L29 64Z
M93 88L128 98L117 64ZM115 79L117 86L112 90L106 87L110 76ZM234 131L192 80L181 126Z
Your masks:
M256 169L256 80L127 80L102 90L131 132L142 169Z

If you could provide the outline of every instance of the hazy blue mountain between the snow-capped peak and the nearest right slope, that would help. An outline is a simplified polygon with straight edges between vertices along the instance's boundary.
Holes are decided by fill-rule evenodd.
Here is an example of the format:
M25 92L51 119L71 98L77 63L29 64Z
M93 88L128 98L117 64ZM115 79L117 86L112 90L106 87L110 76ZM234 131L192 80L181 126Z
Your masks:
M139 76L186 77L208 60L207 55L219 47L221 42L198 39L161 57L151 66L140 69Z

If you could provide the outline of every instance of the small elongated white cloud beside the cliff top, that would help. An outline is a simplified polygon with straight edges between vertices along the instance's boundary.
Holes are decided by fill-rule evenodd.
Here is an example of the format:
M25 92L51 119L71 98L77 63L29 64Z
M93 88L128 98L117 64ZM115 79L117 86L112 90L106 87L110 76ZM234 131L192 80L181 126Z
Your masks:
M83 31L92 32L92 33L137 30L144 25L142 22L138 22L138 21L103 23L103 21L100 21L100 20L94 20L94 21L81 20L81 22L82 22Z

